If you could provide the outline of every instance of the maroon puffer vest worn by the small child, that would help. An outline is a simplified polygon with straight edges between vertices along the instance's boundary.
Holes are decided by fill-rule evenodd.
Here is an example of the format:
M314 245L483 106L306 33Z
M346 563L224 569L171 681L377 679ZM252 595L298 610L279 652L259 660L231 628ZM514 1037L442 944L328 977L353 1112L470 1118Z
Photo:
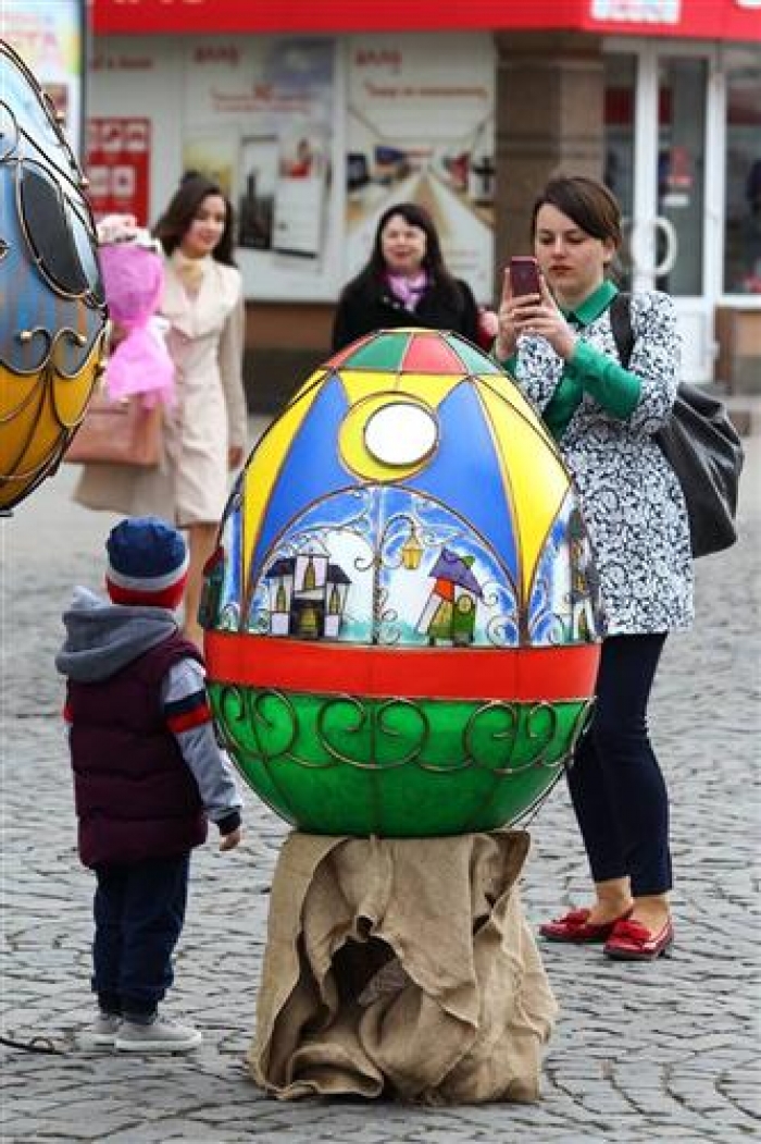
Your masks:
M79 855L86 866L181 855L206 840L195 780L161 709L173 664L200 656L179 633L109 680L67 684Z

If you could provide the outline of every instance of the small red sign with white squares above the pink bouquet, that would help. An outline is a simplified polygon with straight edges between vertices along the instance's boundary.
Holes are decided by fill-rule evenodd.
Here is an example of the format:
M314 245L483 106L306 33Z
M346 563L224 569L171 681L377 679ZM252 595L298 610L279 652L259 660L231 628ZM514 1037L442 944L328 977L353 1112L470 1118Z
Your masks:
M149 119L87 120L87 197L97 219L131 214L147 225L150 158Z

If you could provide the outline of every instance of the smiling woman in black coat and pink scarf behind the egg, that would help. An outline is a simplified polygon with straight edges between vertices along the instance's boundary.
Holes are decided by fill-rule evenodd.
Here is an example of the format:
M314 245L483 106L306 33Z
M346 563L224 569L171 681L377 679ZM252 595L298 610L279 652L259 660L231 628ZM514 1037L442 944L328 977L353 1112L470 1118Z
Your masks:
M478 324L473 293L447 270L430 214L398 202L380 215L373 254L338 300L333 348L398 326L452 329L476 342Z

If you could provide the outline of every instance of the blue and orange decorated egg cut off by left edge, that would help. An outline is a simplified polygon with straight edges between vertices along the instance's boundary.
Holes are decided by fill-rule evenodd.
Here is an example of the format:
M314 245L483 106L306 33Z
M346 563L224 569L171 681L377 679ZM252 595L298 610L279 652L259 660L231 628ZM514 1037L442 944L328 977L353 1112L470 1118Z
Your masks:
M93 217L55 109L0 41L0 510L57 468L101 373Z

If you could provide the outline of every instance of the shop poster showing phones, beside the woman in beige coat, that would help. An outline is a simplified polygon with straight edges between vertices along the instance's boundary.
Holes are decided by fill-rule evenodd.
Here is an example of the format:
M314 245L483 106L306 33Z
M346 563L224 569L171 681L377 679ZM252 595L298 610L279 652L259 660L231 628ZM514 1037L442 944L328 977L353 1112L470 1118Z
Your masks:
M246 38L185 46L182 162L238 214L249 297L335 293L335 41Z

